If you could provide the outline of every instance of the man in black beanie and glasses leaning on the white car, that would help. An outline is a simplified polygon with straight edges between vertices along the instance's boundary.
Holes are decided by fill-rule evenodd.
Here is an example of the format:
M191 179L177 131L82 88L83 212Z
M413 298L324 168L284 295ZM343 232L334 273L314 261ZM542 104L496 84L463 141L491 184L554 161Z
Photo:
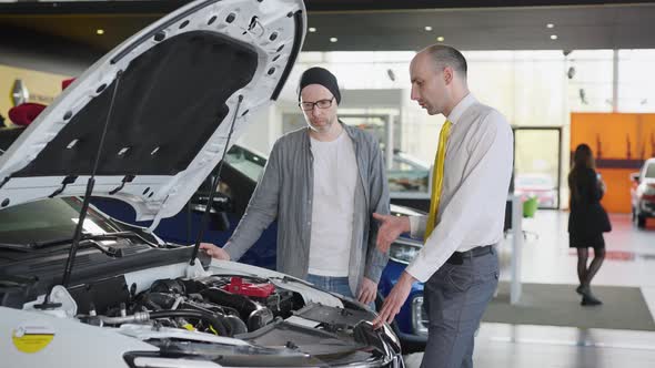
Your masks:
M377 222L389 214L389 187L379 142L337 117L341 92L323 68L308 69L298 89L306 127L273 145L245 214L214 258L239 259L278 219L278 270L373 306L389 259L375 247Z

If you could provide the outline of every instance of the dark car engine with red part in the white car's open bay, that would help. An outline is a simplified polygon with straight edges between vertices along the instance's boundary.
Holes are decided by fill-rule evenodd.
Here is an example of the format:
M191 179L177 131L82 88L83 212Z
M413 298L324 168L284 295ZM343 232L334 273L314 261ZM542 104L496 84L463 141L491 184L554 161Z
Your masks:
M80 307L89 297L83 292L71 293ZM119 298L124 300L90 301L78 318L95 326L152 323L233 337L255 331L276 317L288 318L304 304L265 279L242 276L159 279L148 290Z

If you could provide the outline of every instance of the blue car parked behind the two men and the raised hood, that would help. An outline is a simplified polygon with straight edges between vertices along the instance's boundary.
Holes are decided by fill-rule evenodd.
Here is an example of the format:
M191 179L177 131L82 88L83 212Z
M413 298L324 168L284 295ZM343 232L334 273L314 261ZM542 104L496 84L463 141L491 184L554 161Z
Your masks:
M260 175L262 175L266 159L251 150L240 145L233 145L225 155L225 162L221 172L221 183L218 197L211 209L209 228L205 229L203 242L224 244L232 235L245 212L248 202ZM155 234L162 239L178 244L191 244L195 242L201 217L206 208L206 197L211 188L213 176L208 177L195 195L191 198L185 209L173 217L161 221ZM148 226L149 223L135 222L135 213L123 202L107 197L94 197L93 205L105 214L121 221ZM391 212L395 215L419 215L422 212L391 205ZM225 218L226 217L226 218ZM239 260L245 264L275 268L276 260L276 223L272 223L264 231L260 239ZM382 273L377 286L377 307L382 306L384 297L389 295L406 265L416 256L422 243L411 239L406 234L392 244L390 260ZM400 337L403 354L422 351L427 339L426 315L423 310L423 284L414 283L407 301L401 308L395 321L392 324L395 334Z

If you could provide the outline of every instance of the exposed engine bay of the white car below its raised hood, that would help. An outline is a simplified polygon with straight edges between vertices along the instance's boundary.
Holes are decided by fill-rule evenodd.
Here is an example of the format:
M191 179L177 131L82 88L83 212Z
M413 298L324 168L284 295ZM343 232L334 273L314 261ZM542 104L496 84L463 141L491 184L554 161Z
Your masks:
M3 282L0 299L32 318L70 319L157 348L125 350L131 367L179 358L231 367L396 361L397 339L389 327L373 328L375 314L364 305L275 272L216 266L177 263L95 274L51 289L44 277L14 277Z

